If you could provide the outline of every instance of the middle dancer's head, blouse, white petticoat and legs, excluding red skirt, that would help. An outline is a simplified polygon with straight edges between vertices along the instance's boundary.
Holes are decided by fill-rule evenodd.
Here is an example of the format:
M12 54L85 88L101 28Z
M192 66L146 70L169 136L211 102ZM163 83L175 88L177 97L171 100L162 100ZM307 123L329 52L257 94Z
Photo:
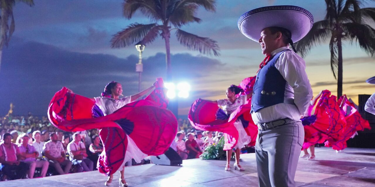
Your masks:
M226 98L227 99L219 99L217 101L210 101L212 103L215 103L222 107L223 111L227 116L233 113L237 108L239 108L241 105L245 104L245 102L248 100L248 98L251 97L251 94L248 95L241 95L239 97L236 97L236 95L239 95L240 92L244 92L242 88L239 88L236 85L231 85L228 89L226 89ZM234 122L234 127L236 127L238 131L238 139L237 141L233 139L233 137L225 135L225 143L226 144L235 144L233 149L235 150L234 155L236 157L236 162L234 163L233 167L234 169L237 169L238 171L243 171L244 169L240 165L240 150L241 148L245 147L245 145L248 145L251 141L251 137L248 136L246 133L244 126L242 124L242 121L240 119L237 119L236 122ZM226 166L225 170L230 171L230 160L232 157L232 148L226 150Z

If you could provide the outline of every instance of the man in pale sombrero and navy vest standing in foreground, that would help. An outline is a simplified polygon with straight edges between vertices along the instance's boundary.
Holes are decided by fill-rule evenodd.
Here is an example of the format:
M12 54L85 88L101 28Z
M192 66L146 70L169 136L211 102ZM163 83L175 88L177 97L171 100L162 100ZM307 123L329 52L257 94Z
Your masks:
M297 6L261 7L246 12L238 22L241 33L259 42L266 55L251 100L252 119L259 129L255 153L260 187L295 186L305 134L300 118L312 89L305 61L293 42L302 39L313 22L311 13Z

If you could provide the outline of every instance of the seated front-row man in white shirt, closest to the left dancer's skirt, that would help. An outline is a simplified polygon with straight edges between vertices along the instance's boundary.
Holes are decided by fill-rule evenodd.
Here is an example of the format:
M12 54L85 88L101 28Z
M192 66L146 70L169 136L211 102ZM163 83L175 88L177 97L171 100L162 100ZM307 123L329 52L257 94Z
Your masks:
M82 166L83 171L93 171L94 163L90 159L88 159L88 155L86 152L86 147L83 142L81 142L81 134L76 132L73 134L73 141L68 144L68 153L69 159L75 163Z

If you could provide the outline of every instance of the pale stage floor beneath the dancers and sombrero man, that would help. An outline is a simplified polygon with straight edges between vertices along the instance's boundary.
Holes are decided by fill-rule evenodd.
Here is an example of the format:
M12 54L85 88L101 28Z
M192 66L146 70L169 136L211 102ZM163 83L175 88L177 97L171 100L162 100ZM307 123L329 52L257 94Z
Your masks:
M316 160L300 159L297 186L304 187L375 187L375 149L346 148L336 153L326 147L315 148ZM242 154L245 171L224 171L225 161L184 160L182 166L146 164L125 168L130 187L256 187L255 154ZM234 162L232 162L233 164ZM232 165L233 166L233 165ZM118 186L119 174L113 184ZM98 171L58 175L45 178L0 182L1 187L104 187L106 177Z

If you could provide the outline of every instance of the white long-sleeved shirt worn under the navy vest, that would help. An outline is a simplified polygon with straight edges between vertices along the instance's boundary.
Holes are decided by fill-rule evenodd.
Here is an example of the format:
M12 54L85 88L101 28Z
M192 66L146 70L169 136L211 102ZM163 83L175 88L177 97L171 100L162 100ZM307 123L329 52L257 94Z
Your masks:
M271 54L276 55L285 49L289 49L289 47L280 47ZM311 85L305 71L305 61L294 51L285 51L276 60L275 67L287 81L285 85L284 102L294 99L295 105L279 103L262 108L258 112L252 112L252 119L255 123L265 123L284 118L301 121L300 118L306 113L309 102L313 96Z

